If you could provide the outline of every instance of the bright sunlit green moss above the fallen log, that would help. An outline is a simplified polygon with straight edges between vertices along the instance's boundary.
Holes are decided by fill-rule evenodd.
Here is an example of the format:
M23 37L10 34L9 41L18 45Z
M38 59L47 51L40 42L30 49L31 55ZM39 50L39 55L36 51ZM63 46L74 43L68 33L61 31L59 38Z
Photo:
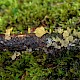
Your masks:
M39 26L41 21L45 20L45 16L49 17L48 21L45 20L47 26L55 26L55 24L65 25L70 20L72 21L71 24L73 24L73 18L79 20L79 3L78 0L1 1L0 29L4 32L6 27L14 27L16 28L16 31L20 30L23 32L23 30L28 26Z

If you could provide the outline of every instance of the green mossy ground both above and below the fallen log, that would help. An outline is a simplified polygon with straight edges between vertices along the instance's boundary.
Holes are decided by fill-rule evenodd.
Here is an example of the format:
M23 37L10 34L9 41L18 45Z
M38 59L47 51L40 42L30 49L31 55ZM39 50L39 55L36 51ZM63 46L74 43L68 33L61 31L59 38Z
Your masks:
M48 18L46 18L46 16ZM1 0L0 33L37 27L45 21L49 29L71 27L80 31L80 0ZM43 52L27 53L12 61L13 53L0 52L0 80L79 80L80 52L53 57ZM49 67L48 65L54 65Z

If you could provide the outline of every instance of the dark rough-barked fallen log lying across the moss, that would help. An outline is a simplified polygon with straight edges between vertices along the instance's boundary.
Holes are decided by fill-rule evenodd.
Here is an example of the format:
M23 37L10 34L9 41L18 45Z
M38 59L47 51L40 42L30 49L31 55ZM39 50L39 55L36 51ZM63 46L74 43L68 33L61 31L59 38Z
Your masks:
M63 38L60 34L45 34L41 38L37 37L35 34L28 34L25 36L14 35L11 36L10 40L5 40L4 35L0 35L0 51L26 51L26 50L40 50L42 49L45 53L60 53L65 50L69 51L80 51L80 39L75 38L72 42L67 44L67 46L61 46L60 42L54 41L52 37L59 36ZM56 47L57 46L57 47Z

